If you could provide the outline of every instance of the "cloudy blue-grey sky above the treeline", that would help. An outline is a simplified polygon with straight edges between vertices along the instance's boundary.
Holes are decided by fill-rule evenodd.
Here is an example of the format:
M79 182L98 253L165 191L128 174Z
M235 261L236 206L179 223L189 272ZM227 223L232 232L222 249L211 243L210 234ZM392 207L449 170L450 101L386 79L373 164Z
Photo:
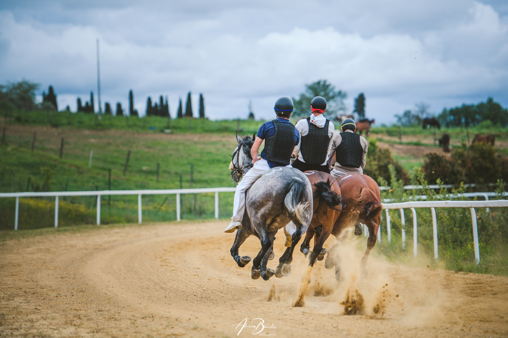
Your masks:
M271 118L280 96L327 79L360 92L376 122L430 105L508 106L508 3L502 0L265 1L4 0L0 2L0 83L51 84L58 105L97 93L102 103L146 109L148 95L199 93L211 119ZM97 96L95 97L96 109ZM104 109L104 108L103 108Z

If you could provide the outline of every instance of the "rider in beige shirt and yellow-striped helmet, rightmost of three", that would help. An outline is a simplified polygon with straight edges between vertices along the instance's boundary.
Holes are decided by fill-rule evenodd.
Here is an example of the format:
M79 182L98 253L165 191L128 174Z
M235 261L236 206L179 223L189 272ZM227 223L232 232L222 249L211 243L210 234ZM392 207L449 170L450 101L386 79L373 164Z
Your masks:
M356 123L353 119L342 121L341 130L342 132L335 133L328 152L328 164L331 164L335 153L335 166L330 175L335 179L347 174L363 175L367 162L367 140L355 133Z

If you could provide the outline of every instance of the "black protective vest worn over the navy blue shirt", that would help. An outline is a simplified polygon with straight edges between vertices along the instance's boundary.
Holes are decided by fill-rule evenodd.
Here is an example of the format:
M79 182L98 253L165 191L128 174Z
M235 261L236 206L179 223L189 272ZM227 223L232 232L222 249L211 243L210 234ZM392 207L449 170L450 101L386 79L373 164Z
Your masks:
M275 135L265 139L265 154L270 162L288 165L295 149L295 126L291 123L272 121Z

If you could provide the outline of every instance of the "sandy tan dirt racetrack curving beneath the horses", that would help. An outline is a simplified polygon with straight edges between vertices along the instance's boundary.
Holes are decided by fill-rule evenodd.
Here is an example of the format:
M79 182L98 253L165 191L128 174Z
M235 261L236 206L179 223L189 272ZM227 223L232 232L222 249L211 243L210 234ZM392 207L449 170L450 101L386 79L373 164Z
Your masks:
M362 280L362 252L350 246L345 280L317 262L305 306L294 308L304 256L295 252L289 277L252 280L251 263L240 268L230 256L234 234L225 225L133 225L0 243L0 336L508 336L508 278L394 265L374 249ZM259 248L252 237L240 254ZM270 267L282 250L278 234ZM347 294L356 315L344 315ZM266 327L241 329L245 319Z

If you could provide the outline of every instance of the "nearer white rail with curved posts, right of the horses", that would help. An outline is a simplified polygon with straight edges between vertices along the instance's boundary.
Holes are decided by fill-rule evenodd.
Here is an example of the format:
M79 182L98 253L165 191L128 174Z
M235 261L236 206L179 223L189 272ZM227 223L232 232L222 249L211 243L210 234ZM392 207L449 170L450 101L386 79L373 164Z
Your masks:
M480 248L478 243L478 227L477 227L477 219L476 212L474 208L505 208L508 207L508 200L499 199L499 200L433 200L433 201L409 201L409 202L400 202L400 203L383 203L383 208L386 210L386 219L387 219L387 234L388 234L388 242L392 241L392 228L391 228L391 219L388 210L390 209L400 209L401 215L401 223L402 223L402 246L405 247L405 219L404 219L404 209L411 209L413 215L413 254L416 257L418 253L418 224L417 224L417 215L415 208L430 208L432 212L432 234L434 238L434 259L437 261L438 259L438 250L437 250L437 221L436 221L436 211L435 208L469 208L471 211L471 223L473 230L473 242L474 242L474 258L478 263L480 263ZM378 241L381 241L380 231L378 232Z

